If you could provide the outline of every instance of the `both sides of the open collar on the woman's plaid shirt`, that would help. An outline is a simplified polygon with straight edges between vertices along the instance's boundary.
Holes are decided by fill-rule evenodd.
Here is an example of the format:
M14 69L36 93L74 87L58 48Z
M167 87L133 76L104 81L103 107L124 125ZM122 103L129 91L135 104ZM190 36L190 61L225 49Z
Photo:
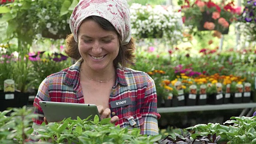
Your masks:
M66 73L66 77L63 80L63 83L71 86L73 85L74 90L77 90L80 84L80 65L81 65L82 59L79 59L75 64L70 66L68 68L68 71ZM124 69L122 69L122 66L119 64L116 68L116 83L114 87L117 86L117 84L121 84L123 86L128 86L126 82L126 75L124 72Z

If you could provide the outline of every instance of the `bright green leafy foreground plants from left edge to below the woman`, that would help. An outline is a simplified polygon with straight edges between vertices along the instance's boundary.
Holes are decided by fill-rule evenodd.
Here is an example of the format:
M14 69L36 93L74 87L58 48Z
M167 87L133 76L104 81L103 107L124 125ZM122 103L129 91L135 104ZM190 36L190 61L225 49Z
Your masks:
M25 144L29 139L42 140L39 143L76 143L76 144L153 144L161 139L158 136L146 136L140 134L140 129L120 128L110 123L110 118L99 121L98 116L94 120L88 118L81 120L64 119L61 122L52 122L47 125L43 122L36 130L32 128L32 118L37 115L32 109L14 108L0 112L0 143L4 144ZM6 114L10 114L5 116ZM36 135L32 132L37 133ZM31 135L32 134L32 135ZM28 139L29 138L29 139ZM30 142L28 142L30 143ZM33 142L38 143L38 142Z

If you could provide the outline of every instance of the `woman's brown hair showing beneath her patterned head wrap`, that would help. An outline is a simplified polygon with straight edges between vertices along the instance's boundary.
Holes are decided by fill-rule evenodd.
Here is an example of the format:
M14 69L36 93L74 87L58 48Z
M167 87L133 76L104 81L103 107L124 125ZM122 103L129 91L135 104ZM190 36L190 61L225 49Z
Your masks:
M106 19L101 18L99 16L90 16L88 17L95 22L97 22L104 30L114 30L114 26ZM88 19L86 18L86 20ZM117 32L116 32L117 33ZM117 33L118 34L118 33ZM127 66L128 64L131 64L134 62L134 51L135 51L135 40L134 38L131 38L128 44L122 45L121 44L121 38L120 35L118 34L119 37L119 52L117 57L114 59L113 63L114 66L117 67L118 63L122 65L122 67ZM78 42L75 41L73 34L69 34L66 37L66 48L65 48L65 53L68 54L69 57L74 58L75 60L78 60L81 58L81 55L78 50Z

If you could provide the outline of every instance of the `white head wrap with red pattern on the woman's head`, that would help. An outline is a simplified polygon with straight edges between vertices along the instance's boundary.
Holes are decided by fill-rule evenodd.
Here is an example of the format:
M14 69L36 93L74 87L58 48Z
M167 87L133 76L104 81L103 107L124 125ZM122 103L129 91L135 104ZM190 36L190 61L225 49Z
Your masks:
M80 0L70 16L70 30L78 42L78 28L89 16L108 20L122 38L122 45L131 39L130 11L126 0Z

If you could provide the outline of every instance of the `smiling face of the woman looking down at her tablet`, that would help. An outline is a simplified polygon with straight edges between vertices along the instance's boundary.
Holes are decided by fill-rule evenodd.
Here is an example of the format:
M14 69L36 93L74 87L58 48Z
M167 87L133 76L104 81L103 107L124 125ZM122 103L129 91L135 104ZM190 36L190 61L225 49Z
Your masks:
M104 30L94 20L85 20L79 28L78 49L85 65L92 70L112 68L119 52L118 35Z

